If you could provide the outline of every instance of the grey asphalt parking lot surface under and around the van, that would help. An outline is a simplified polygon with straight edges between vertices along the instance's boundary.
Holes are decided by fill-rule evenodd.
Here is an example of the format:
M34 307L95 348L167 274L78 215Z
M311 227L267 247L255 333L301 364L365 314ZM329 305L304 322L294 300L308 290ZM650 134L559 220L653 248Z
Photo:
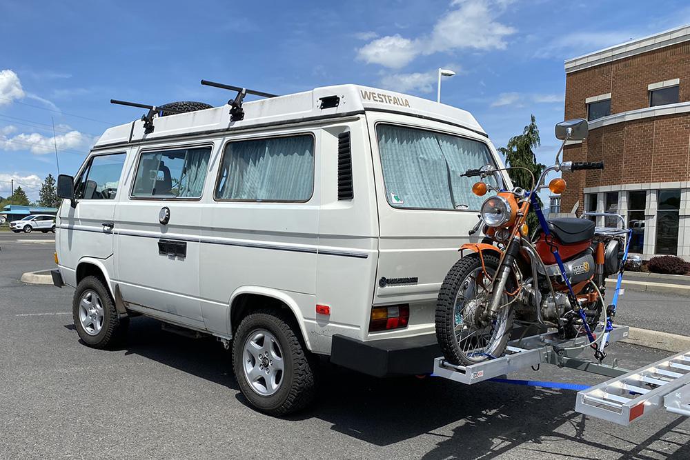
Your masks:
M115 350L81 345L72 290L18 281L52 268L52 245L39 241L50 237L0 233L1 458L690 458L687 419L658 411L622 428L573 412L574 392L499 383L328 367L313 408L266 417L246 406L212 339L136 318ZM611 353L627 368L668 354L620 344ZM548 366L515 377L603 380Z

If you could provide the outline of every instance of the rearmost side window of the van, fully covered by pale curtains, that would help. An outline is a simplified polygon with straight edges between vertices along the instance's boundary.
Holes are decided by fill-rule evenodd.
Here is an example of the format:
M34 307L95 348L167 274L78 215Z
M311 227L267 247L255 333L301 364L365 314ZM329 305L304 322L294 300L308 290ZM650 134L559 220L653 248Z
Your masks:
M215 198L242 201L308 201L314 190L311 134L230 142Z

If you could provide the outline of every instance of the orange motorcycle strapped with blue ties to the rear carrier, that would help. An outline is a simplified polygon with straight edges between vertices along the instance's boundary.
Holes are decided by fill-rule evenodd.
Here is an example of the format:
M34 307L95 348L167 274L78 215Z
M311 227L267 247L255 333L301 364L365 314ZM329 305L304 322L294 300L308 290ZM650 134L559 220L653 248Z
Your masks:
M556 125L563 143L555 164L538 181L532 177L531 190L506 190L493 166L463 174L493 177L489 182L497 185L474 184L479 196L495 192L482 204L480 221L470 232L482 229L484 238L462 246L462 258L446 274L438 295L436 336L450 363L469 366L500 357L517 325L555 328L564 338L586 334L595 357L604 359L631 230L620 216L623 228L595 228L589 216L545 219L537 199L549 172L604 168L603 163L559 161L566 141L584 139L587 131L584 119ZM553 179L548 188L558 194L566 182ZM540 223L531 237L525 223L530 209ZM604 309L604 281L615 272L613 299Z

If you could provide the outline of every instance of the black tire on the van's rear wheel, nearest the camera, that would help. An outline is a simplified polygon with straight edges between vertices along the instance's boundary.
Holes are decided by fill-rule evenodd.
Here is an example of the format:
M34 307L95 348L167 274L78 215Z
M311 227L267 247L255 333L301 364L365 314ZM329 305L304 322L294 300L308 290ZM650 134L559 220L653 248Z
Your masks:
M258 310L242 319L233 338L233 371L242 394L257 410L275 417L305 408L316 393L317 360L306 350L299 329L290 326L293 322L284 312ZM244 345L259 330L273 334L283 352L282 380L270 396L253 390L244 373Z

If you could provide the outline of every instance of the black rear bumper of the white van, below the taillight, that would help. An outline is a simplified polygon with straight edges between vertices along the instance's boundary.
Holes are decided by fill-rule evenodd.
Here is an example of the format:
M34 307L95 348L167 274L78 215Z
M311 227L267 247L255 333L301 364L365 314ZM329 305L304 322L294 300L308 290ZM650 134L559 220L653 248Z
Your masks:
M374 377L431 374L441 354L435 334L366 342L336 334L331 346L332 363Z

